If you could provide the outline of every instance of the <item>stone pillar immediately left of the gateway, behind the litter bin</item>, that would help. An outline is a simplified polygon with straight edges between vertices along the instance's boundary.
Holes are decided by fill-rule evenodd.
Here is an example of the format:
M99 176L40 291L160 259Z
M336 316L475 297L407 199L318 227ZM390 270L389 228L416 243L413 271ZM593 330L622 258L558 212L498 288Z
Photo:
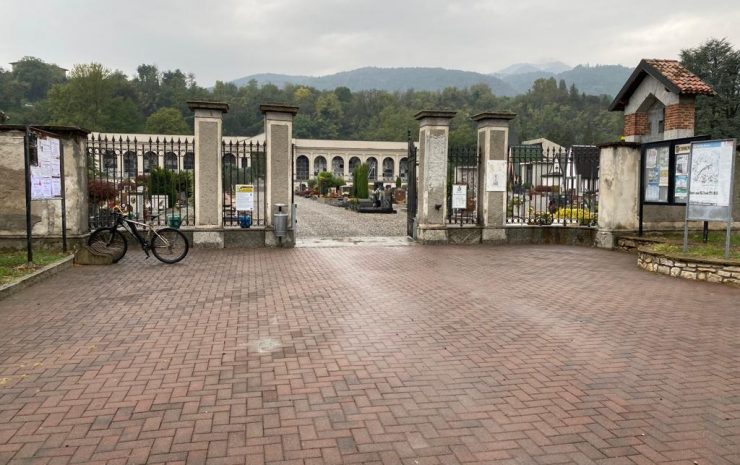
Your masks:
M260 105L265 115L265 144L267 145L267 218L268 231L265 233L265 245L295 245L295 235L290 218L292 178L293 117L298 107L288 105ZM309 158L310 163L311 158ZM281 241L272 234L272 215L278 211L275 205L285 204L288 214L288 236Z

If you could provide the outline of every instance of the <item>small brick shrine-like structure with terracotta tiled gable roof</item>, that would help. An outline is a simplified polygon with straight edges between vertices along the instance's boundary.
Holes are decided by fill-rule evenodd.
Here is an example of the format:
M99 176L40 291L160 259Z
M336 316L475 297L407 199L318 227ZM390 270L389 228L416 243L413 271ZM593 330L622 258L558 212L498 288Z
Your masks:
M714 90L677 60L645 59L609 110L624 112L627 142L692 137L697 95L714 95Z

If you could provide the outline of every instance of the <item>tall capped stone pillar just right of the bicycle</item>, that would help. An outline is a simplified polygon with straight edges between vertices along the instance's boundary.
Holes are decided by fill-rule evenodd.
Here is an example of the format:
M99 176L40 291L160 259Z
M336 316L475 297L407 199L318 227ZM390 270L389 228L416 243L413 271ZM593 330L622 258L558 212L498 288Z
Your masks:
M221 137L223 102L190 101L195 113L195 229L193 244L223 247L223 186L221 177ZM160 165L162 166L162 165Z

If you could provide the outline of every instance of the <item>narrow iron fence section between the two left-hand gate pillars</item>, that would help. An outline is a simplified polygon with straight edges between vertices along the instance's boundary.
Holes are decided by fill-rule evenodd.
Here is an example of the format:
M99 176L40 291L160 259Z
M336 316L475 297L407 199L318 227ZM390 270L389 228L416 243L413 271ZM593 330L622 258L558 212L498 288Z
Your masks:
M224 226L264 226L267 210L266 145L222 142ZM237 210L236 186L252 186L252 209Z

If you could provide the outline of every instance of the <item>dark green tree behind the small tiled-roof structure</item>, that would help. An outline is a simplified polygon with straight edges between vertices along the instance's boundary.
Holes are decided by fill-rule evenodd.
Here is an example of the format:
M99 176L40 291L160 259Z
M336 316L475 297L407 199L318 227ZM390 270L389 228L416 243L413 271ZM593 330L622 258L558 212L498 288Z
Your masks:
M740 50L727 39L709 39L681 51L681 63L714 88L696 100L696 132L712 137L740 135Z

